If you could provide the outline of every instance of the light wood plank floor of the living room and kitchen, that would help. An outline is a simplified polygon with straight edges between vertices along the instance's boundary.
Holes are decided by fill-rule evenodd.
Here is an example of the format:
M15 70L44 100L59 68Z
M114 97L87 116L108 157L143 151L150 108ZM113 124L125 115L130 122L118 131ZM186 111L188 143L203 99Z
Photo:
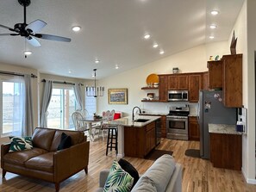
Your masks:
M184 155L186 149L199 148L197 141L161 139L161 144L157 148L172 151L176 161L183 165L183 192L256 191L256 185L247 184L240 171L217 169L208 160L186 157ZM92 192L97 189L100 170L109 168L116 158L115 152L109 152L109 156L105 156L105 149L106 140L96 139L95 142L91 142L88 175L85 175L84 170L78 172L61 183L59 191ZM141 158L126 157L126 159L140 174L153 164L153 161ZM2 179L1 172L0 191L53 192L55 189L53 183L17 176L9 172Z

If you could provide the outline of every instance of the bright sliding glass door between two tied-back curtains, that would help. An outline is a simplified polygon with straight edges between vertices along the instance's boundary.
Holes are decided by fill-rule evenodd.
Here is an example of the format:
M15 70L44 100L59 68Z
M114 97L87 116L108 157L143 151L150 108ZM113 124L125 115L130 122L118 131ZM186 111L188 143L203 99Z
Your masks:
M74 129L72 113L77 109L74 90L71 88L53 88L48 106L47 127Z

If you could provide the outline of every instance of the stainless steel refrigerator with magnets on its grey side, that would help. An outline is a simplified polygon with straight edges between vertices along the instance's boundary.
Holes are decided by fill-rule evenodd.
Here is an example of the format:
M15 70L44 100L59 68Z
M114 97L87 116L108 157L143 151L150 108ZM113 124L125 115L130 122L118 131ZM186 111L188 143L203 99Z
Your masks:
M209 123L236 124L236 108L222 104L222 90L200 90L198 122L200 127L200 156L209 159Z

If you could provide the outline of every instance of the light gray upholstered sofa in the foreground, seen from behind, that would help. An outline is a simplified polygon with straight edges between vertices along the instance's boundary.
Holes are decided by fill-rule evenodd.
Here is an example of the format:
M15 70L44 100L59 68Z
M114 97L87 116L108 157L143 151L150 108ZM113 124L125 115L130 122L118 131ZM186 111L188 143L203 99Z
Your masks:
M102 170L97 192L103 191L109 170ZM131 192L180 192L182 191L182 166L171 155L163 155L142 175Z

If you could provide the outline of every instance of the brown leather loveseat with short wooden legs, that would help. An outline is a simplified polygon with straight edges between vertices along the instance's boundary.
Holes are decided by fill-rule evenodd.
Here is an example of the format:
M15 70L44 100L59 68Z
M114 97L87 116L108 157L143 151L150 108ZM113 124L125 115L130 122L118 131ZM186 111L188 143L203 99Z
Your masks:
M71 136L72 146L57 151L62 133ZM59 183L68 177L80 170L88 173L90 142L86 139L79 131L37 127L32 136L32 150L9 152L9 144L1 146L3 177L9 171L42 179L55 183L55 189L59 191Z

